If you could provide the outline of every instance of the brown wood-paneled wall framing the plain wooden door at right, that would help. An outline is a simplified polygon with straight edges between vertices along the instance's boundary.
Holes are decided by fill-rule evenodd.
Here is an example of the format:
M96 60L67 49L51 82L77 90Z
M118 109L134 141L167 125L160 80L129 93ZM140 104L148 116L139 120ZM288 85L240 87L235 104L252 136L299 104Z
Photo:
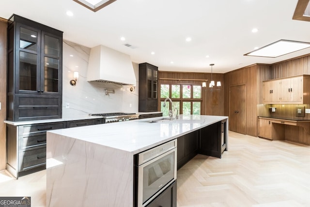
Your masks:
M240 68L225 74L225 115L229 115L229 91L230 86L246 85L246 134L257 136L257 116L258 116L258 82L257 65Z

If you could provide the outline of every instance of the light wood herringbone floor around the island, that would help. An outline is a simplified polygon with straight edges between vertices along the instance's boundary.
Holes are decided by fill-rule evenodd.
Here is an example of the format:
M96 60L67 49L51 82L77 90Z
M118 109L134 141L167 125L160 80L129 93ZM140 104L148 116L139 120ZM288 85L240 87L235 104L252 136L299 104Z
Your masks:
M310 146L229 132L222 159L197 155L178 171L177 207L310 207ZM13 179L0 196L45 207L46 171Z

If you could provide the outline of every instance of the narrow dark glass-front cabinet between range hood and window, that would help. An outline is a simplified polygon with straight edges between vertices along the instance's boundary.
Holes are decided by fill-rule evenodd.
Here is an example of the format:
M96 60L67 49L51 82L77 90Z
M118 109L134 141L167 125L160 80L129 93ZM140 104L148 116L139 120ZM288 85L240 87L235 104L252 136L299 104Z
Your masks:
M139 111L158 111L158 67L139 64Z

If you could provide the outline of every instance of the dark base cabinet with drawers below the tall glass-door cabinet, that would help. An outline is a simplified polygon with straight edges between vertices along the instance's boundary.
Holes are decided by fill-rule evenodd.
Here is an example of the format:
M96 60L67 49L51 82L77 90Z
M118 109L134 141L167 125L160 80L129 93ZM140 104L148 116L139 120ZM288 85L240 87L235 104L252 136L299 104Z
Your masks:
M6 170L16 178L46 169L47 130L65 128L65 122L6 127Z

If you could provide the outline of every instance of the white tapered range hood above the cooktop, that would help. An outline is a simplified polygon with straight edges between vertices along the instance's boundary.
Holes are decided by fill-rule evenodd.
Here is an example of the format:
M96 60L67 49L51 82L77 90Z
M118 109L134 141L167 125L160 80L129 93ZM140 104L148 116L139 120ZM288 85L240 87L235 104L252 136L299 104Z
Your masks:
M136 85L130 56L103 45L91 49L86 80Z

